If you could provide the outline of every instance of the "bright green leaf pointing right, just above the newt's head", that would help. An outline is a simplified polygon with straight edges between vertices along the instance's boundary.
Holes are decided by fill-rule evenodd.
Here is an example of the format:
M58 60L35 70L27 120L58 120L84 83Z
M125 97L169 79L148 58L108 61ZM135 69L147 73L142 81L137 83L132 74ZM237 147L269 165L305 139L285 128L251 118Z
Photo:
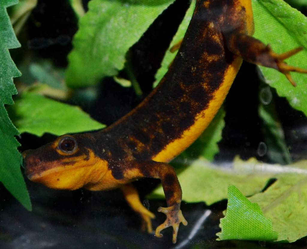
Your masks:
M91 119L79 107L57 102L36 93L25 92L15 101L14 124L22 132L37 136L45 132L57 136L98 130L105 125Z

